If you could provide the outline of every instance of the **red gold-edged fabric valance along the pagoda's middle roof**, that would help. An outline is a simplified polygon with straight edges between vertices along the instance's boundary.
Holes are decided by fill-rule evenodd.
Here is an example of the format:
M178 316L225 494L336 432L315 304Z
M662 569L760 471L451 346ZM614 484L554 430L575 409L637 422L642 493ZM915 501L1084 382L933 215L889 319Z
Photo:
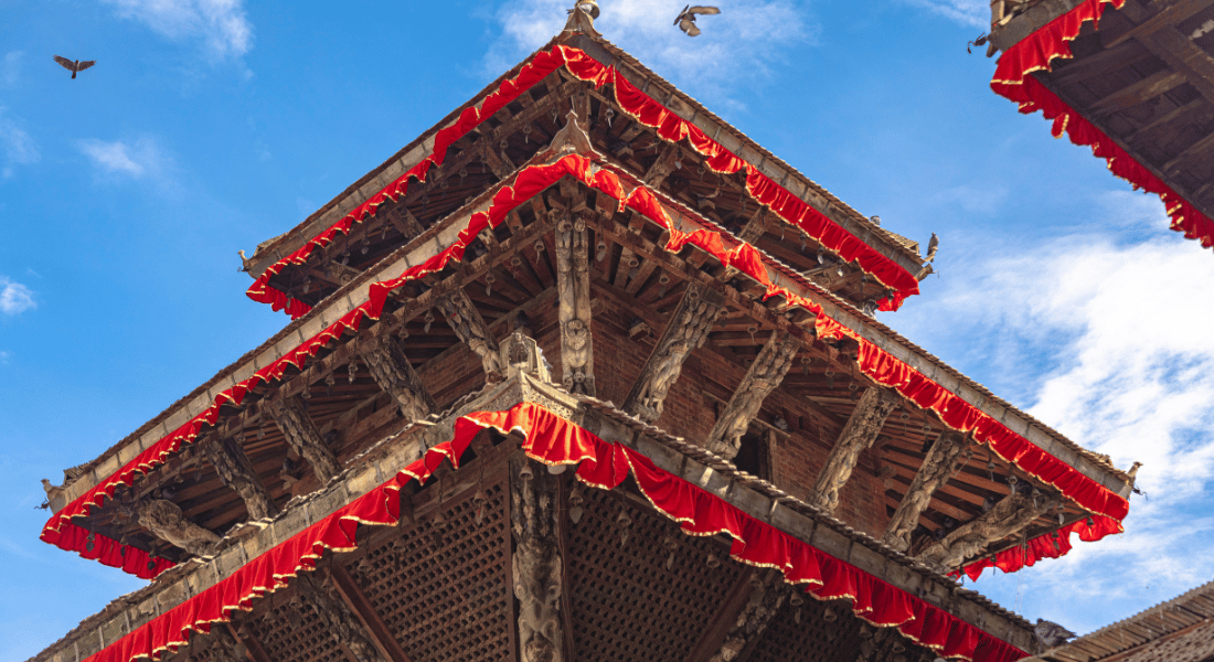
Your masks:
M182 445L192 443L203 425L214 425L216 423L220 406L223 403L232 402L239 404L244 400L244 396L259 384L277 381L283 377L288 367L302 369L320 347L339 338L346 330L357 330L367 318L378 319L384 311L387 295L392 290L429 273L442 271L452 261L458 262L463 260L469 243L482 230L488 226L497 227L511 210L566 176L577 177L586 186L615 198L619 200L620 210L632 209L660 224L668 230L670 236L666 245L663 247L665 250L677 253L687 244L699 247L720 260L722 265L737 268L739 272L762 284L765 288L765 299L783 296L790 305L801 306L813 312L817 316L816 330L819 338L841 338L845 335L853 338L860 344L858 363L864 374L868 374L881 384L897 389L919 407L936 412L947 425L963 432L972 432L978 442L988 445L1005 460L1054 485L1065 496L1083 508L1111 517L1116 522L1121 522L1125 517L1129 509L1129 503L1125 499L1110 492L1066 463L1054 458L1020 435L1016 435L1002 423L980 412L959 396L927 379L892 355L880 350L869 340L861 338L835 322L823 312L822 306L818 304L781 285L777 279L772 278L771 273L773 271L768 271L762 254L753 245L741 242L728 233L709 230L708 224L697 220L691 211L686 211L683 215L687 219L694 220L699 225L699 228L691 232L685 231L670 219L658 196L652 191L643 186L634 186L631 189L628 189L625 183L635 185L635 181L629 179L628 175L614 172L608 168L600 168L585 157L568 155L552 164L532 165L521 170L511 185L501 187L493 196L488 210L476 213L471 216L469 225L460 231L452 245L425 262L409 267L396 278L373 283L368 289L367 302L346 313L341 319L329 326L317 336L291 350L283 358L257 370L251 378L216 396L215 403L205 412L152 445L152 447L140 453L140 456L129 462L118 473L101 481L96 487L51 516L42 530L42 539L57 544L63 549L83 554L85 548L79 547L83 544L83 538L63 533L63 527L70 526L73 517L87 515L93 507L101 505L106 497L112 497L119 485L132 485L136 474L147 473L153 466L161 464L169 456L176 453ZM775 270L775 267L772 268ZM1119 524L1117 524L1117 530L1121 530Z

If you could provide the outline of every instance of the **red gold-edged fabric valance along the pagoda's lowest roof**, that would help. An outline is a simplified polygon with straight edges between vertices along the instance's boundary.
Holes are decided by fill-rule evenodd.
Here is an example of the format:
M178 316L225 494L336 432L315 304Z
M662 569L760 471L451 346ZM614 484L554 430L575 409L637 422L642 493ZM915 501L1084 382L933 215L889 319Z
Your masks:
M880 627L896 627L942 657L1015 662L1027 656L948 612L755 520L716 496L658 469L636 451L606 442L538 404L522 403L506 412L461 417L455 421L452 441L431 448L422 459L384 485L253 559L232 576L90 656L86 662L159 660L165 651L175 652L186 645L193 633L206 633L214 623L229 621L233 611L251 610L254 599L285 587L300 572L313 570L325 550L356 549L359 524L399 524L401 488L410 480L425 483L444 459L458 468L472 437L490 428L503 434L522 434L522 448L533 459L550 465L578 465L577 479L588 485L614 490L631 476L654 508L680 522L685 533L727 534L733 539L730 549L733 559L778 568L789 583L804 587L819 600L849 600L860 618Z

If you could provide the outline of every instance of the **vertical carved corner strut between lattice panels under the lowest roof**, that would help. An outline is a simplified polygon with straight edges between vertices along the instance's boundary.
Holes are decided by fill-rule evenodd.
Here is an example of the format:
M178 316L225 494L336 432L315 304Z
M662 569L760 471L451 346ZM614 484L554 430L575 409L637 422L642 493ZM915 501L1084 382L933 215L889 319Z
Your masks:
M515 598L518 599L521 662L562 662L565 590L555 521L557 477L524 457L510 462Z

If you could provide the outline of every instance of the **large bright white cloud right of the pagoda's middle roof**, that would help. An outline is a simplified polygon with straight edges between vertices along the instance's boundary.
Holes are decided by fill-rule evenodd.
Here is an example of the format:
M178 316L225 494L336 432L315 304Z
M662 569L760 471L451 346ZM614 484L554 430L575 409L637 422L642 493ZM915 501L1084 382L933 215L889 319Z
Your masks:
M1214 558L1192 553L1214 543L1214 302L1204 294L1214 260L1163 230L1157 199L1110 193L1094 210L1099 232L954 265L946 292L907 319L925 332L949 319L944 353L993 368L997 391L1019 392L1033 415L1117 466L1144 463L1138 486L1150 500L1135 497L1124 536L978 583L1079 630L1214 575ZM1090 609L1056 600L1062 585L1090 596Z

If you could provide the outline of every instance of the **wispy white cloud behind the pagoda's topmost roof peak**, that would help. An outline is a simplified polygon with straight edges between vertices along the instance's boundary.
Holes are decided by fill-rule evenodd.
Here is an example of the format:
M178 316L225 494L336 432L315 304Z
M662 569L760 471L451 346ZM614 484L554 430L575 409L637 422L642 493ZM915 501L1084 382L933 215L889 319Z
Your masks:
M543 46L565 27L568 0L520 0L497 13L501 38L486 67L497 75ZM793 43L813 43L817 24L804 5L789 0L738 0L720 16L700 17L703 34L685 36L671 23L674 5L651 0L603 2L595 27L612 43L688 92L743 107L739 89L761 81Z

